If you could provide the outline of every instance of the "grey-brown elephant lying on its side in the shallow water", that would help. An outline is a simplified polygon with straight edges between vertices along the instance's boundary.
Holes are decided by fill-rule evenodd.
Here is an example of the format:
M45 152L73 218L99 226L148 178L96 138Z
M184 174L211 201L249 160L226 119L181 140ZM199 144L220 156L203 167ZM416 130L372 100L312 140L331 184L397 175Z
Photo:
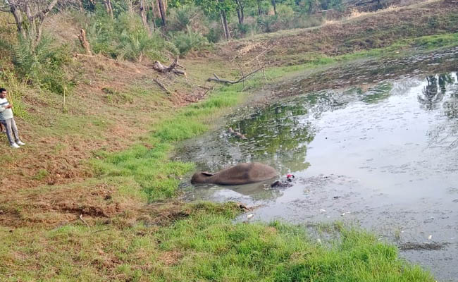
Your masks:
M256 183L278 176L278 172L265 164L245 163L225 168L217 173L197 172L191 178L192 184L213 183L219 185L241 185Z

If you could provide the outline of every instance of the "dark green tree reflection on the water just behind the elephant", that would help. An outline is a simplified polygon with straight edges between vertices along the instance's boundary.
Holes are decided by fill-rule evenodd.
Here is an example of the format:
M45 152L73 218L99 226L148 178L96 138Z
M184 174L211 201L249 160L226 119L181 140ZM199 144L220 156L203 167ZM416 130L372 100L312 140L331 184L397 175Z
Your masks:
M307 144L314 140L308 115L307 101L273 104L259 109L247 118L228 125L243 133L247 141L230 137L231 145L240 147L241 161L263 161L287 171L306 169Z

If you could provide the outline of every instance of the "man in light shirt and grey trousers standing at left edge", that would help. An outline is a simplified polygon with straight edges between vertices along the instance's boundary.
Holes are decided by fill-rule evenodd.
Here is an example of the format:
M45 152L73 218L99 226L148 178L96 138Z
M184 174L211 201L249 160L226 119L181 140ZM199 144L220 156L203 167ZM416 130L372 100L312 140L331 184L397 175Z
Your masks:
M6 89L0 88L0 123L6 128L6 136L8 136L11 147L19 148L19 145L25 144L19 139L18 128L11 110L12 107L13 105L9 104L6 99Z

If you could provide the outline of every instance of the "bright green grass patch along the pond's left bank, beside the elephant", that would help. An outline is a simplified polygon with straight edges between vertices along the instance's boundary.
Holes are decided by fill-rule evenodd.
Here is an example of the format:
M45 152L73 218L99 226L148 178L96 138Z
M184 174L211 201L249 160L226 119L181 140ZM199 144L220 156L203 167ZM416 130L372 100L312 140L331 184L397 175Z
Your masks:
M133 177L150 202L173 197L180 177L194 168L191 163L168 159L175 142L204 133L211 126L211 119L238 104L242 94L238 85L223 87L209 99L163 119L142 144L123 152L97 152L98 159L92 160L92 164L99 176Z

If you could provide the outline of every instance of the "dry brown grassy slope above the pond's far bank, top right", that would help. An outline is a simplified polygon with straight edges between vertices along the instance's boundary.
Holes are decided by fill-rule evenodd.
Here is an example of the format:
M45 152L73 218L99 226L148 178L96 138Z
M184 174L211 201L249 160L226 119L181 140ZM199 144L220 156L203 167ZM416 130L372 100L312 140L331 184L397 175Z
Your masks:
M219 54L233 59L247 45L263 42L263 48L249 49L240 63L252 61L262 52L271 66L308 63L311 54L338 56L354 51L383 48L400 39L457 32L458 6L447 1L426 1L404 7L392 7L376 13L354 13L354 18L328 21L321 27L287 30L254 37L249 42L234 41L218 45ZM437 18L431 28L429 20ZM400 28L402 26L402 28Z

